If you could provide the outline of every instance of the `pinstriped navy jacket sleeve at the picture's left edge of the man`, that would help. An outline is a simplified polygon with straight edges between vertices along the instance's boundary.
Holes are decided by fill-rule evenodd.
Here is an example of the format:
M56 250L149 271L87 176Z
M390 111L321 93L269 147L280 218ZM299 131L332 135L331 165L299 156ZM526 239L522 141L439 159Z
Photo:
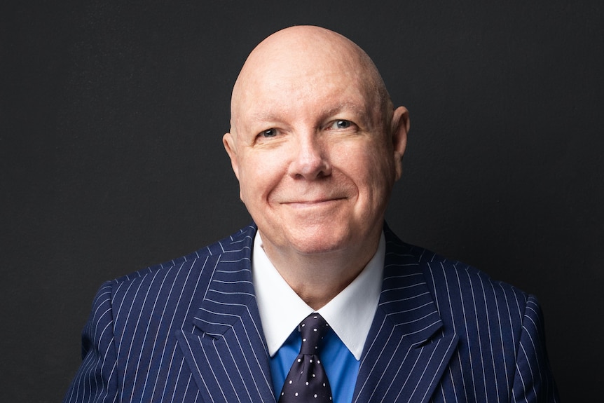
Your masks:
M82 364L64 403L116 402L118 395L111 282L100 287L82 332Z

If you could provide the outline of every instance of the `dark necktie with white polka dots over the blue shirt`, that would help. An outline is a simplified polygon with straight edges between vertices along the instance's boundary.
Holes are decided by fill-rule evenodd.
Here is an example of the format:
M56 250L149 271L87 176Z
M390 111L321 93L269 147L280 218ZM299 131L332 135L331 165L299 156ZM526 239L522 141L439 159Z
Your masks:
M279 403L331 402L331 386L318 355L319 342L328 329L329 325L318 313L311 313L300 323L300 354L291 364Z

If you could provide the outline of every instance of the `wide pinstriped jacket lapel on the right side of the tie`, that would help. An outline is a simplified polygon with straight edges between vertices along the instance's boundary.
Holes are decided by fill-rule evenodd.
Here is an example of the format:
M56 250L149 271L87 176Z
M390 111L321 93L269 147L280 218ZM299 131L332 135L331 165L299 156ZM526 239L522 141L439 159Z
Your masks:
M353 402L427 402L458 343L444 332L420 256L387 227L380 302Z

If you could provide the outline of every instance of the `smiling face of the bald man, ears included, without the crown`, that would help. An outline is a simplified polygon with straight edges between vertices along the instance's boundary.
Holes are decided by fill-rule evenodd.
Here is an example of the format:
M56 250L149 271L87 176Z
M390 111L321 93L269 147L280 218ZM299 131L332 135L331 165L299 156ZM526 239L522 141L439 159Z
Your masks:
M375 247L406 142L359 66L308 58L245 76L224 136L265 249ZM276 63L278 64L278 62Z

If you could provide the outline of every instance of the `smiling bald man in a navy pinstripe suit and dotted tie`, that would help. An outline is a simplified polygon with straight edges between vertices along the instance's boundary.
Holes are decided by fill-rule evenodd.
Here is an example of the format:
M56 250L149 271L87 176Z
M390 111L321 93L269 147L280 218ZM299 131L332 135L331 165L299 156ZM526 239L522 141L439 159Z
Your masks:
M64 401L558 401L535 298L385 226L408 130L348 39L265 39L224 135L255 224L103 285Z

